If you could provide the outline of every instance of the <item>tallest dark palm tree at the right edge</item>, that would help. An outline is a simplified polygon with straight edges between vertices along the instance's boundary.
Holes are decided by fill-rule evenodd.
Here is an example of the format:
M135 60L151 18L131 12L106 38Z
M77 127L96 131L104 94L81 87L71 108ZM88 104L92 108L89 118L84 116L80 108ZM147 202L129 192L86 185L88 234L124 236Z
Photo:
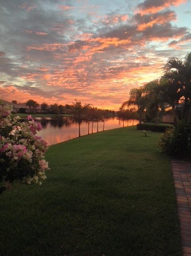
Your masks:
M186 117L191 99L191 52L187 53L183 60L175 57L169 58L163 70L165 75L176 76L184 96L183 115Z

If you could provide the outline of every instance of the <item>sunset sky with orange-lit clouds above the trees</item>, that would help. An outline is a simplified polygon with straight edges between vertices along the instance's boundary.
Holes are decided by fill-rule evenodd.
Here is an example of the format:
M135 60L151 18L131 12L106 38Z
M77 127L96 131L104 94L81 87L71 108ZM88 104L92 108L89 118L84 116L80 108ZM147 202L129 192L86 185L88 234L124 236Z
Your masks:
M0 98L118 110L191 51L191 0L0 0Z

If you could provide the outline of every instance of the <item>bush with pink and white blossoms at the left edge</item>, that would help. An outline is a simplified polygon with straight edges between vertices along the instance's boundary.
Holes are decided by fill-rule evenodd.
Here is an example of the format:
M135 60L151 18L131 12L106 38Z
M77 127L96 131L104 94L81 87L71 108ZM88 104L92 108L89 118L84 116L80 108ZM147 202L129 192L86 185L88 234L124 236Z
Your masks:
M49 169L44 159L47 143L36 136L42 126L31 116L21 122L10 114L11 108L0 103L0 182L41 185Z

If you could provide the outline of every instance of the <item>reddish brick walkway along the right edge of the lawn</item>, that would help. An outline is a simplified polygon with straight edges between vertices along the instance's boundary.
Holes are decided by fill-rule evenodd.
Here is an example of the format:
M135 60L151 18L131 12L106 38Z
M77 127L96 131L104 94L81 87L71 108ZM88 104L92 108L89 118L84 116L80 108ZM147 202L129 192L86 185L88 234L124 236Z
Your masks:
M172 160L183 256L191 256L191 162Z

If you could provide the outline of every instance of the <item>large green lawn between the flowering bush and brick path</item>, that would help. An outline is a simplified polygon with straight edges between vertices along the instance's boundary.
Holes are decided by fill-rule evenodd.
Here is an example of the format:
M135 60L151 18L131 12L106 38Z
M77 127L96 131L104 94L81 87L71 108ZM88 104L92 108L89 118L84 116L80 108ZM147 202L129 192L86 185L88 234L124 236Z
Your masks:
M51 146L42 186L15 184L1 195L1 254L182 255L159 135L118 128Z

